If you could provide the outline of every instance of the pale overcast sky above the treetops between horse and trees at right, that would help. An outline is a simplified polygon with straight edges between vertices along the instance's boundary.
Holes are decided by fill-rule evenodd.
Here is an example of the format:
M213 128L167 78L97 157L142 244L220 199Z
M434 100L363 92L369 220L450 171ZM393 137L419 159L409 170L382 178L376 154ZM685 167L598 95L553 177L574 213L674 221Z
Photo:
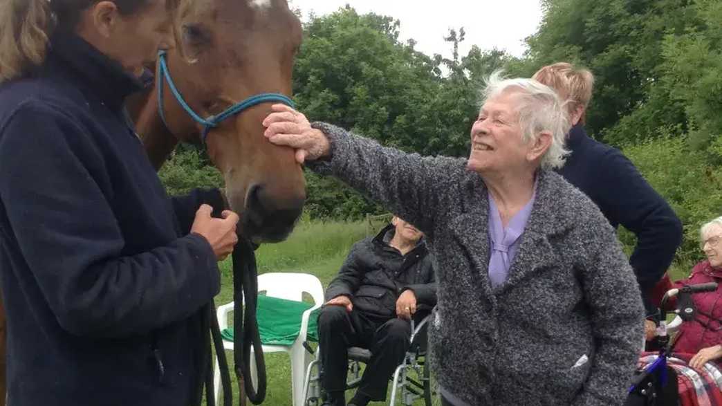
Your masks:
M464 27L466 40L459 53L466 55L472 45L498 48L521 56L523 39L536 32L541 21L539 0L289 0L304 18L334 12L350 4L360 14L374 12L401 20L401 40L414 38L417 49L432 55L451 56L443 37L448 28Z

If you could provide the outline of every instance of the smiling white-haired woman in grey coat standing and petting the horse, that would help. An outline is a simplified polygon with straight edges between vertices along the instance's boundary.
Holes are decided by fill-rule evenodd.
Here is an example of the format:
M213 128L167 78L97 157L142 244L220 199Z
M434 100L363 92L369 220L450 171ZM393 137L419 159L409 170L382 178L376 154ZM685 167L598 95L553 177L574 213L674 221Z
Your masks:
M621 404L643 307L612 227L552 171L566 154L562 103L533 79L496 75L484 96L468 159L381 147L282 105L264 126L299 162L427 235L438 263L431 361L445 404Z

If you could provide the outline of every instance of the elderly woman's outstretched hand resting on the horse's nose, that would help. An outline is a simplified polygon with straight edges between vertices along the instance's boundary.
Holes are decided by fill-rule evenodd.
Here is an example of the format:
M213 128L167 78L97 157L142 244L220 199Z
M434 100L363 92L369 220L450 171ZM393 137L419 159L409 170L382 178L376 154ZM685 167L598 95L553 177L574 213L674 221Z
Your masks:
M298 163L329 155L329 139L323 131L312 128L306 116L284 104L274 104L271 110L263 123L269 141L296 150Z

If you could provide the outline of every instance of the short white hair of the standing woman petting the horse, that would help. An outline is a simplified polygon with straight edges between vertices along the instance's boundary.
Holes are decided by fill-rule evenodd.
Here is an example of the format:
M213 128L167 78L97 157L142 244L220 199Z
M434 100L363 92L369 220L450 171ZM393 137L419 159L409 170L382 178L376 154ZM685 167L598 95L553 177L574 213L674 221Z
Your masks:
M565 137L571 128L565 103L562 103L557 92L547 85L521 77L504 79L501 71L496 71L486 80L482 105L508 91L518 93L520 98L516 111L523 142L536 142L542 131L551 133L552 144L541 157L541 168L561 168L569 154L565 149Z

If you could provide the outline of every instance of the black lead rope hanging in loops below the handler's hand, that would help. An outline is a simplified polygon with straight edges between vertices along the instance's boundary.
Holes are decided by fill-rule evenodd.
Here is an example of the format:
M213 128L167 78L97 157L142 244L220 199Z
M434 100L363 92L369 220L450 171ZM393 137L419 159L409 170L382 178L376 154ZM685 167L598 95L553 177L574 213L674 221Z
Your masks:
M235 374L238 377L240 396L239 405L245 405L245 397L254 405L260 405L266 399L266 362L261 348L261 335L258 333L256 306L258 302L258 269L256 268L255 248L250 241L241 238L233 250L233 360ZM245 298L245 314L243 309ZM202 404L203 388L206 388L206 405L215 406L213 387L213 360L211 344L216 350L221 387L223 388L223 406L232 406L233 394L230 384L230 369L223 348L223 339L216 318L216 306L212 301L201 310L203 334L200 360L201 376L193 405ZM210 330L211 334L207 334ZM212 340L212 342L211 342ZM258 371L258 389L253 388L251 380L251 345L256 358Z

